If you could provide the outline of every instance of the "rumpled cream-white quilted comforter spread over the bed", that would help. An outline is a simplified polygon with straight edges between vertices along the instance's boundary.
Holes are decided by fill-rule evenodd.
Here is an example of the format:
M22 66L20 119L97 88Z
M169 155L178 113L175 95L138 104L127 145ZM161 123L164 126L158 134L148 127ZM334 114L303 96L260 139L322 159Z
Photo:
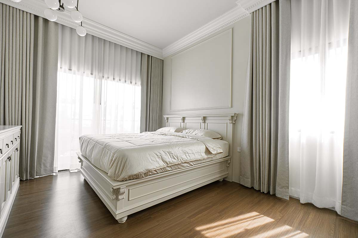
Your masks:
M187 167L223 153L212 138L176 132L83 135L79 145L83 156L117 181Z

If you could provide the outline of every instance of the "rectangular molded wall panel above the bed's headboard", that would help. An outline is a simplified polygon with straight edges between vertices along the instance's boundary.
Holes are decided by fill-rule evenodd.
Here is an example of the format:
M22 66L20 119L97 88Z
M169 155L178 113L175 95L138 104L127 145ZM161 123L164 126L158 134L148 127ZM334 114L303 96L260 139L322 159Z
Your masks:
M231 108L231 66L232 29L171 57L169 111Z

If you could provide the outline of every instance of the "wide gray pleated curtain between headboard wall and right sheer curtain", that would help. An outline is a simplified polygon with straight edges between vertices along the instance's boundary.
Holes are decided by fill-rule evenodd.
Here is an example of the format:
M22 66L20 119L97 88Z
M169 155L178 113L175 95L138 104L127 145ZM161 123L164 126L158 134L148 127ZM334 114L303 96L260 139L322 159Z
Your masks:
M240 183L289 199L290 1L251 13Z

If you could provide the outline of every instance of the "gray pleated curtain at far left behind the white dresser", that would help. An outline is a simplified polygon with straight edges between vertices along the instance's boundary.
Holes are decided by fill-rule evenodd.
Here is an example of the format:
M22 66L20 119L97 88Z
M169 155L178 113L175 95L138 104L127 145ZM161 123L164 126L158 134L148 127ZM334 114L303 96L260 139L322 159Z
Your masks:
M0 124L22 125L22 180L53 173L58 26L0 4Z

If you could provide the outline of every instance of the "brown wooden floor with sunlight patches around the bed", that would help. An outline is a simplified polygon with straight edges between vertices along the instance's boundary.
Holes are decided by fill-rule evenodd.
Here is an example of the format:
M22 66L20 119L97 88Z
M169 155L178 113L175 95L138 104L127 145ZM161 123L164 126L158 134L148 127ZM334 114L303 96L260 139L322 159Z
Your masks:
M214 182L132 214L119 224L79 172L21 182L4 238L358 237L329 209Z

